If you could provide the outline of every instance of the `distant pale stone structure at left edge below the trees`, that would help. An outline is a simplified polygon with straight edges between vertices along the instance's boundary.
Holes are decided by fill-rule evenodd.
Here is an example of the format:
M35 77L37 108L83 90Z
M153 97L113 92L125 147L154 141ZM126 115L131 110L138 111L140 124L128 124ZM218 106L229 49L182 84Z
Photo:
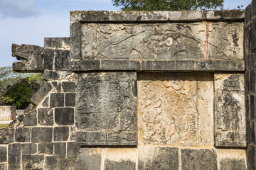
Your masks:
M14 120L16 118L16 106L0 106L0 120Z

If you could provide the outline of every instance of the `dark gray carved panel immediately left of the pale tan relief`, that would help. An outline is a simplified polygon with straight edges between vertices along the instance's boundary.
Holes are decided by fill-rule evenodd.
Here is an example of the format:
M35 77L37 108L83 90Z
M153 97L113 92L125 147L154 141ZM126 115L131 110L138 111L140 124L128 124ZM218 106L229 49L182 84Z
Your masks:
M136 74L128 72L78 74L76 127L82 130L77 133L79 143L137 145L136 81Z

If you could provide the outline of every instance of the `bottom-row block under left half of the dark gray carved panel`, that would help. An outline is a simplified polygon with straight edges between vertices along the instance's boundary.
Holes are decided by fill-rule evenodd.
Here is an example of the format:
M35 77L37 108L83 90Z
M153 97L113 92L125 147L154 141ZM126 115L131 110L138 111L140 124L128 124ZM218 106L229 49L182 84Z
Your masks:
M102 151L102 148L81 147L78 162L75 164L75 170L100 170Z

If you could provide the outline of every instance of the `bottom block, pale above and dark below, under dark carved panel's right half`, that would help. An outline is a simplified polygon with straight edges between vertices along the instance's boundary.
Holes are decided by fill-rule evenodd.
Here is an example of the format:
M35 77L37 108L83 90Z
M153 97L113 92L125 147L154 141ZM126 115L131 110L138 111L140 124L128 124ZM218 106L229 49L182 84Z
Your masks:
M107 148L105 149L104 169L135 170L137 162L136 148Z

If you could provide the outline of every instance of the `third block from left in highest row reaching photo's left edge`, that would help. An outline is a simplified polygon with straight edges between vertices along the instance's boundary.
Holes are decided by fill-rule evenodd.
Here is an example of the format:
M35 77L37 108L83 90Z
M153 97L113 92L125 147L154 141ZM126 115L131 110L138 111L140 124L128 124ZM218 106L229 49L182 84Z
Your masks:
M52 142L53 128L32 128L31 142Z

